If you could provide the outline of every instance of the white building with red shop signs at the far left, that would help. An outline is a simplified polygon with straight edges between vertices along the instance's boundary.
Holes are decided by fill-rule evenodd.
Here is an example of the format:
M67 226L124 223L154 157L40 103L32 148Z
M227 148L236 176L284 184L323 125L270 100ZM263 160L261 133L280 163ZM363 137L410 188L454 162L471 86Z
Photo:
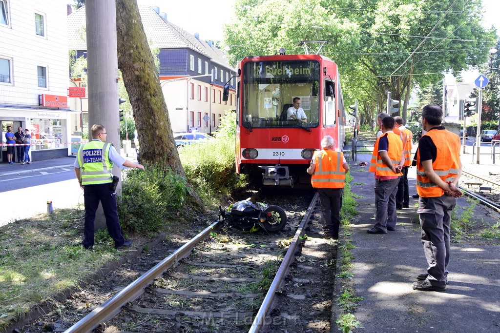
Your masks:
M33 161L69 153L71 111L67 100L66 4L0 0L0 130L31 131ZM6 161L1 146L0 162Z

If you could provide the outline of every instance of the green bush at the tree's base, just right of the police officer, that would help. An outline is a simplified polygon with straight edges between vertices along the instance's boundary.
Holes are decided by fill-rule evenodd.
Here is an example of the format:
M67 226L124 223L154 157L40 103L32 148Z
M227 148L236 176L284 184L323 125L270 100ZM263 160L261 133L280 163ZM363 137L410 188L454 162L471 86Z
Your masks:
M126 231L157 232L182 209L190 188L169 168L149 165L145 171L124 172L118 215Z

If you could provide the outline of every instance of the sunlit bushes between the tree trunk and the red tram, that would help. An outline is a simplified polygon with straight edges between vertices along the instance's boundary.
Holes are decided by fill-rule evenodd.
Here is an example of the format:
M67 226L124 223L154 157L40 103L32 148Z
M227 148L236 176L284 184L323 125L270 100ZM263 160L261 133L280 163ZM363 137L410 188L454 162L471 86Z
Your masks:
M230 194L239 184L234 167L235 123L235 112L227 111L214 140L179 150L186 178L205 200Z

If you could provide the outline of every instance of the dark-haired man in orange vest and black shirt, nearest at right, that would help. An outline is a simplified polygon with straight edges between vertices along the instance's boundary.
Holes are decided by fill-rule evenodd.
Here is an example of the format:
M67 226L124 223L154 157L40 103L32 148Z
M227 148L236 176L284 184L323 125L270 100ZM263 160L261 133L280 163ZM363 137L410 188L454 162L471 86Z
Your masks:
M462 195L457 185L462 170L460 139L441 126L442 116L442 109L435 104L423 107L422 127L427 132L418 142L416 191L428 268L412 285L419 291L446 290L451 211Z

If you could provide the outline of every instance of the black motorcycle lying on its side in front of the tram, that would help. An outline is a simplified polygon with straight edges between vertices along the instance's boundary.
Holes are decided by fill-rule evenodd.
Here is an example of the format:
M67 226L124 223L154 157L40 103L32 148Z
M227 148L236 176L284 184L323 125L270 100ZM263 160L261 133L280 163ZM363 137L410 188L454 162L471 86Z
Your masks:
M283 230L286 214L279 206L242 200L230 205L227 210L219 206L219 221L245 232L262 228L266 232L276 233Z

